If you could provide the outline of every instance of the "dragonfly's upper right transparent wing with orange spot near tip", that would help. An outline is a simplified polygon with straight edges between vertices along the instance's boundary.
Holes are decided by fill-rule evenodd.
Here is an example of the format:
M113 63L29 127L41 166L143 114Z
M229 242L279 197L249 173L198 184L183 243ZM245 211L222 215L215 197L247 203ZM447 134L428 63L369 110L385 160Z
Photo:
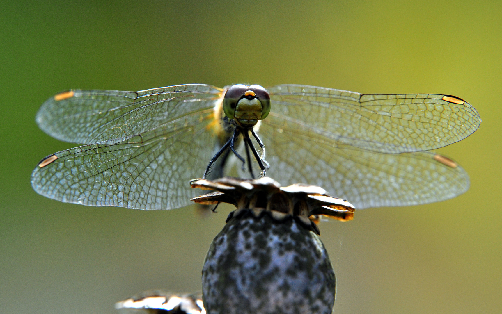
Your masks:
M270 115L282 116L285 124L302 125L326 139L377 152L446 146L472 134L481 122L469 103L449 95L364 95L303 85L267 89Z

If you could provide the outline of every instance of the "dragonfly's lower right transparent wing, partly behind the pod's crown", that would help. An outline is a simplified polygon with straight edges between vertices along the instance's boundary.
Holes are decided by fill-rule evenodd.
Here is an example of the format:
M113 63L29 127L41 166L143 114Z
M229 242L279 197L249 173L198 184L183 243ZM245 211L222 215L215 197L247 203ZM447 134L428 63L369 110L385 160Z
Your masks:
M269 115L262 122L259 134L271 165L267 176L283 186L317 185L357 209L438 202L469 187L469 177L461 167L432 152L379 153L310 132L277 116Z

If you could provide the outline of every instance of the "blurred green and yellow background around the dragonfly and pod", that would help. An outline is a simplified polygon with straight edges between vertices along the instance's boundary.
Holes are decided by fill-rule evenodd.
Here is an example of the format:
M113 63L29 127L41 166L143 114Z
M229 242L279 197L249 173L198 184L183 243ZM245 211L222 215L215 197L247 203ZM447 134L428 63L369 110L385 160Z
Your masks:
M146 289L200 290L229 207L144 212L63 204L30 175L73 145L35 113L68 88L309 84L446 93L483 122L440 149L469 173L453 200L356 211L320 226L334 313L502 312L502 2L0 4L0 312L114 313Z

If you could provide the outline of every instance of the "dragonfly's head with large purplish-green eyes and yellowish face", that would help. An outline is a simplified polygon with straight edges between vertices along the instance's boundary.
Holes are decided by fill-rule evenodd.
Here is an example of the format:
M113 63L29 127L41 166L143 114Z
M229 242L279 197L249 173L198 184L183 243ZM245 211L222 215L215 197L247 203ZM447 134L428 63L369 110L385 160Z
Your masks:
M269 115L269 92L260 85L232 85L223 97L223 111L239 126L253 127Z

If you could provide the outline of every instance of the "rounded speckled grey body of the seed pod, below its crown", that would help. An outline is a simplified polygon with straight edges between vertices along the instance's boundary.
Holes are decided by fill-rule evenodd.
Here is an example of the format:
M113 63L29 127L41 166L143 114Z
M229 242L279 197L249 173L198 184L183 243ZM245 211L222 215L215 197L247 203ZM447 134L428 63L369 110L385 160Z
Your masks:
M211 243L202 291L210 314L328 314L335 273L317 234L292 216L243 210Z

